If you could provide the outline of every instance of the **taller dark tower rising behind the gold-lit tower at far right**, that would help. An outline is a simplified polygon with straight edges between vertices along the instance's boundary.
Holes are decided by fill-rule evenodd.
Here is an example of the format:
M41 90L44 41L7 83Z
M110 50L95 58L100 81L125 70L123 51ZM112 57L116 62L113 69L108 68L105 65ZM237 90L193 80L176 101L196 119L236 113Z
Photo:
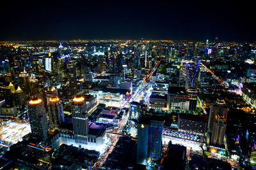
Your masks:
M212 132L214 121L216 120L216 116L220 115L220 117L227 118L228 108L223 99L217 99L215 103L212 103L210 109L210 115L208 120L208 131Z

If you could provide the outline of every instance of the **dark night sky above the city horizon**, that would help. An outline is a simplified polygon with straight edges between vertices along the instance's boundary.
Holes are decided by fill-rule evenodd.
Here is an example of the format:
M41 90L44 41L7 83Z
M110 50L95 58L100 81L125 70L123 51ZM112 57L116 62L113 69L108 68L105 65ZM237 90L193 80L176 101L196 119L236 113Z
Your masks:
M1 1L0 41L188 39L255 41L249 1Z

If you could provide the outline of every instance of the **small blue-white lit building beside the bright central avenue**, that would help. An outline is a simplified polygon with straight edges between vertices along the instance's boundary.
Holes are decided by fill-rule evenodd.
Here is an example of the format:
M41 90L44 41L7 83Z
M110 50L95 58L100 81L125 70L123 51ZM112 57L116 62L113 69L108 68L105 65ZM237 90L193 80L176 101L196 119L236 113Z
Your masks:
M145 104L132 102L130 118L136 119L140 117L140 115L144 115L146 113L146 110L147 110L147 106Z

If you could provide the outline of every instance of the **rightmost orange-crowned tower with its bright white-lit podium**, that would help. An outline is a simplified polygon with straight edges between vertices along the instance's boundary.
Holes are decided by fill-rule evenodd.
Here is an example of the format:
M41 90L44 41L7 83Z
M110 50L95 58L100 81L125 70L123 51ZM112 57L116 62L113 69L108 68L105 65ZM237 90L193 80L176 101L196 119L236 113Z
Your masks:
M67 145L82 146L83 148L102 152L102 147L106 141L106 127L88 122L88 112L96 105L97 99L94 96L79 95L74 97L72 102L74 136L57 134L52 138L52 146L58 148L61 143L66 143Z

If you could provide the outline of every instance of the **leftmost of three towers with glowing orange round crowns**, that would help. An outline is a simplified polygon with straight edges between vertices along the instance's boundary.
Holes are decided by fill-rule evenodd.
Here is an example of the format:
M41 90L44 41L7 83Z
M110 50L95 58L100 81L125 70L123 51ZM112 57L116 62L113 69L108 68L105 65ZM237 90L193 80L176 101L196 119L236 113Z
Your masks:
M47 117L44 102L41 99L34 97L29 101L28 117L32 137L40 140L47 138Z

